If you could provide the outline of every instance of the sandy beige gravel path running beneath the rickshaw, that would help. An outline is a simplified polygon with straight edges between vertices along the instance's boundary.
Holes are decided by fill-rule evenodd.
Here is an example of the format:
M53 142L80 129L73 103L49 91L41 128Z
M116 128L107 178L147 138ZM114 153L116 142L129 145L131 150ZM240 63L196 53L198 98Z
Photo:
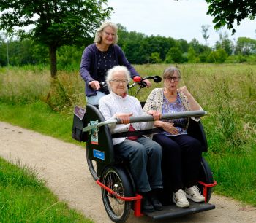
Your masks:
M0 122L0 156L36 169L60 200L94 222L111 222L102 203L101 190L92 179L82 146ZM219 195L211 197L216 209L161 222L256 222L256 208ZM153 222L147 216L129 216L127 222Z

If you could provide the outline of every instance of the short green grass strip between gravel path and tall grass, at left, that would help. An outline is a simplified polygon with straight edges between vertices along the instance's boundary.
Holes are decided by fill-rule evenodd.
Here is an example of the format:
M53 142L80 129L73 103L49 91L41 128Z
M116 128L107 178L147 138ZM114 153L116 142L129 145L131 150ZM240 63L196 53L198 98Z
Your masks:
M0 120L76 143L71 138L72 115L57 113L42 101L20 105L0 102Z

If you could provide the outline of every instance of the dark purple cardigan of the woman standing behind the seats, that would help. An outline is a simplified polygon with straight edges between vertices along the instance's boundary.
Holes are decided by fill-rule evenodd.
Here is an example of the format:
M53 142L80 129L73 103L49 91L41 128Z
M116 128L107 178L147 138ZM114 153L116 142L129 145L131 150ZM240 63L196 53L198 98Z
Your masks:
M113 65L121 65L126 66L129 70L131 77L140 76L137 71L135 71L134 67L129 63L127 58L124 55L124 52L121 50L116 44L110 45L113 47L115 62ZM116 64L115 64L116 63ZM97 71L97 47L96 44L90 44L83 51L82 60L80 63L80 75L83 77L83 80L86 83L86 96L96 95L97 91L92 89L89 86L89 82L93 80L99 80L98 71Z

